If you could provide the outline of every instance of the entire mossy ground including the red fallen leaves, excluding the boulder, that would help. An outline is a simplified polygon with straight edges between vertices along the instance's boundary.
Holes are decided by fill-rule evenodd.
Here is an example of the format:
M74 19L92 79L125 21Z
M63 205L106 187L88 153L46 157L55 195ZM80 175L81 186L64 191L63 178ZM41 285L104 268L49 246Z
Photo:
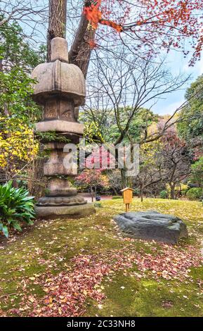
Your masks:
M202 204L133 200L133 211L187 223L190 236L178 246L122 237L112 221L122 199L101 205L93 216L36 221L8 242L0 236L0 316L203 315Z

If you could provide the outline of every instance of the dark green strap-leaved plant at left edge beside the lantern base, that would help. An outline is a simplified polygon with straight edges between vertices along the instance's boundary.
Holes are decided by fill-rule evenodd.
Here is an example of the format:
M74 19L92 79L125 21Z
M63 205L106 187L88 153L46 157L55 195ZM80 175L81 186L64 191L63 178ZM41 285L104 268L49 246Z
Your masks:
M8 228L21 231L20 221L33 224L34 197L27 189L12 187L12 181L0 185L0 232L8 237Z

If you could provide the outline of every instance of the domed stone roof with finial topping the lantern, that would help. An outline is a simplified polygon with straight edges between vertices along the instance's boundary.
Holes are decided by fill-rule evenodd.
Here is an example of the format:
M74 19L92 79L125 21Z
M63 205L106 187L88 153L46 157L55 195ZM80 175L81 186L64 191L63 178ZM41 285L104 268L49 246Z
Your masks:
M32 78L33 99L37 104L46 104L50 97L74 101L74 106L85 102L86 89L84 75L77 65L68 63L67 41L55 37L51 42L51 62L41 63L34 68Z

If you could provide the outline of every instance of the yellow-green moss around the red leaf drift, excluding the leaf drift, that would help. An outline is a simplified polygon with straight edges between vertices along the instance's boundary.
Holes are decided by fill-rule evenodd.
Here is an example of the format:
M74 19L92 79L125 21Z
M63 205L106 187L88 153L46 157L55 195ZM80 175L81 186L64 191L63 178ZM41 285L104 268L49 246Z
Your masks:
M110 255L112 250L128 249L153 254L154 249L162 249L156 243L122 238L112 221L114 215L124 211L122 200L101 204L102 208L96 208L96 215L79 220L37 221L30 231L11 237L0 247L1 316L17 316L13 309L20 309L22 316L27 316L31 306L26 307L23 301L25 293L39 301L40 306L41 298L46 295L42 282L38 281L41 275L46 279L74 270L74 256ZM190 236L175 249L187 251L191 244L200 249L203 240L203 206L200 202L145 199L141 203L133 199L131 210L157 210L179 216L187 223ZM103 277L101 289L105 299L98 304L87 296L84 315L202 316L203 267L191 268L191 282L162 277L155 280L148 273L138 278L134 276L137 271L135 265Z

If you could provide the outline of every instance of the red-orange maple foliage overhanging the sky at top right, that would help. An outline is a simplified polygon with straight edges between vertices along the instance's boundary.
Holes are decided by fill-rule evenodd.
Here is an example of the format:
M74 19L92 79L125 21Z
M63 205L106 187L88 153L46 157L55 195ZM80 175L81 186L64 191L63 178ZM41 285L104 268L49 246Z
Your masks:
M150 55L162 48L182 49L187 55L183 45L187 38L194 49L193 65L203 46L202 9L202 0L89 0L84 15L93 29L107 25L121 38L131 32L137 51L144 48Z

